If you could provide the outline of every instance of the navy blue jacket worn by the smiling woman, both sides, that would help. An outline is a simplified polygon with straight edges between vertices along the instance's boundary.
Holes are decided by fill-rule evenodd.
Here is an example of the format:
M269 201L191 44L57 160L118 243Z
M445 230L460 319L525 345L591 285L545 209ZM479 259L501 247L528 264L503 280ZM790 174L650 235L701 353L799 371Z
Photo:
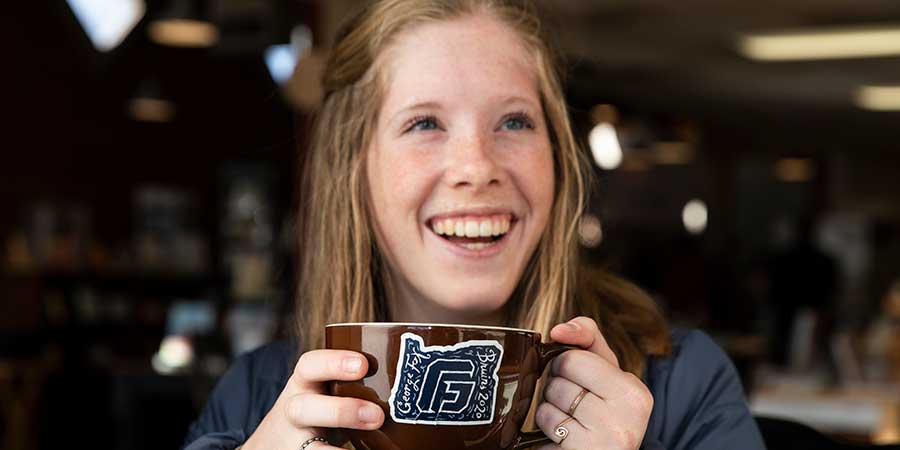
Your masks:
M669 356L647 360L644 381L653 412L641 449L765 449L737 371L722 349L701 331L676 330L672 343ZM277 342L238 358L191 425L184 449L241 445L275 404L293 357L290 345Z

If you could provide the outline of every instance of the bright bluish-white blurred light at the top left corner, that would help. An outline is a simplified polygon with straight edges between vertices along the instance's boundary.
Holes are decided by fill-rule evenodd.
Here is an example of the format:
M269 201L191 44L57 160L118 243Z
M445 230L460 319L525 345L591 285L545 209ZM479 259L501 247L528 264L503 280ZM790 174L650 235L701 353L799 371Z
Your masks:
M94 48L116 48L144 17L143 0L66 0Z

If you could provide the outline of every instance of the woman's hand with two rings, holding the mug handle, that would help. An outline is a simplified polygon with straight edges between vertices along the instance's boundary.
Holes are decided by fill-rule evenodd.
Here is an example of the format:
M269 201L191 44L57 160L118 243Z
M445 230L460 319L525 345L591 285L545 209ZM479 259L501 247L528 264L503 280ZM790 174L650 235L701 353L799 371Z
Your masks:
M635 375L619 368L619 361L597 328L587 317L576 317L550 330L550 338L584 350L569 350L550 366L544 402L535 413L535 423L555 444L541 450L635 450L641 445L653 396ZM562 442L555 433L568 419L569 408L586 389L570 420L563 424L568 434Z

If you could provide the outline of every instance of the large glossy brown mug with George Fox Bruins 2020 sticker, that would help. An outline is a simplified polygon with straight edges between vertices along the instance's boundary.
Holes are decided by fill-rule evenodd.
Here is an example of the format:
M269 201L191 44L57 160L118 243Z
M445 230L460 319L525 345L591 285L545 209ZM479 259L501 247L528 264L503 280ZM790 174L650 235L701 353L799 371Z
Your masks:
M571 347L536 331L475 325L341 323L325 346L369 362L359 381L333 381L332 395L373 402L377 430L343 430L357 450L521 450L551 442L521 432L538 378Z

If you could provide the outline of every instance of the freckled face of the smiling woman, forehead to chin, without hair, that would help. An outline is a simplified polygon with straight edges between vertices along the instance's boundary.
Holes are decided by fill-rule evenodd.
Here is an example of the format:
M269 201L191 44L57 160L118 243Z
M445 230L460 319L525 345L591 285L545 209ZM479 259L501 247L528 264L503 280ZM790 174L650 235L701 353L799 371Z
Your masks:
M400 305L496 312L553 203L531 59L486 16L414 27L382 57L385 97L366 170Z

